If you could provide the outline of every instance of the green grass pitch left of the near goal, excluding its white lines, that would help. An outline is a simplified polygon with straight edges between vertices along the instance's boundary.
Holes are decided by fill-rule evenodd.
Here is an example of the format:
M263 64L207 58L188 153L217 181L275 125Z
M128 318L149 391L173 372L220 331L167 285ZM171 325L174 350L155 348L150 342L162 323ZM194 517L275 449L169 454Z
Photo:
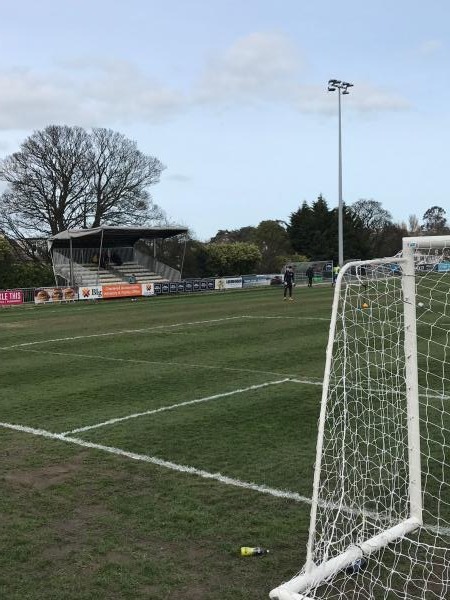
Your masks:
M265 289L2 310L0 421L60 433L301 378L74 435L309 497L331 300L326 286L292 303ZM303 564L306 503L5 428L0 450L2 598L252 600Z

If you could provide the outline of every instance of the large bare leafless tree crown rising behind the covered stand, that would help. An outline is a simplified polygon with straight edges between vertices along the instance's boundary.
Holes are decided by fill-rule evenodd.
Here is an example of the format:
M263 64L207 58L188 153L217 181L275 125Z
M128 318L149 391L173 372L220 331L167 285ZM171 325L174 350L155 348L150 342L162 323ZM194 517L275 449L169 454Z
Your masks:
M0 163L0 231L22 239L162 220L146 189L164 166L109 129L50 125Z

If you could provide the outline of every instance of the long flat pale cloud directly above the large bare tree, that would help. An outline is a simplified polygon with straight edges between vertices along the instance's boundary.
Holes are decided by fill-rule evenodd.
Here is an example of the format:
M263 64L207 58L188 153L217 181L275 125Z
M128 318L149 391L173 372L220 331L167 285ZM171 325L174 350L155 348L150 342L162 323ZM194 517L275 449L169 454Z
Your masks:
M36 129L50 123L101 126L160 122L178 114L182 94L152 81L126 62L77 61L49 72L0 72L0 129Z

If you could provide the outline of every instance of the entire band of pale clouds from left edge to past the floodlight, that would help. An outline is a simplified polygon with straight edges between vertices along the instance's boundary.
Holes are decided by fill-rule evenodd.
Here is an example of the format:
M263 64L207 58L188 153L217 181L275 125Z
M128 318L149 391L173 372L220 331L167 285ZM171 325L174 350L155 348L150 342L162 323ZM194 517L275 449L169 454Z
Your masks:
M160 123L196 107L222 110L263 103L302 113L334 113L335 99L325 84L304 79L305 60L296 46L273 32L251 33L210 57L186 92L122 60L78 58L47 70L8 69L0 71L0 129ZM409 107L395 92L354 83L346 98L350 109L367 113Z

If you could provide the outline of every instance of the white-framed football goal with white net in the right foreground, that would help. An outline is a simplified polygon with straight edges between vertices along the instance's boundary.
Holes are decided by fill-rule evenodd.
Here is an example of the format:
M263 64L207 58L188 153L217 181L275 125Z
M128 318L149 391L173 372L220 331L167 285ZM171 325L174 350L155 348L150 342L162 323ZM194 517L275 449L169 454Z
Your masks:
M450 236L341 270L306 563L270 597L450 598Z

